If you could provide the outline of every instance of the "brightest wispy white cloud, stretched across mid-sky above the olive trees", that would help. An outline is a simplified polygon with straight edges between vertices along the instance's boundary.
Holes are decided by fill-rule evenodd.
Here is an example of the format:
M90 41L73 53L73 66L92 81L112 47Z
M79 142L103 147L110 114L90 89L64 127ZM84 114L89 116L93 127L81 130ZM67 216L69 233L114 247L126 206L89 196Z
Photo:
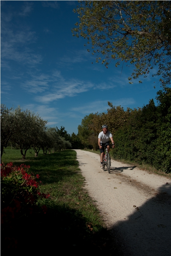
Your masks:
M59 71L51 75L31 75L32 79L21 84L27 92L43 93L35 97L38 102L48 103L66 96L73 97L78 93L87 92L95 85L91 82L84 82L78 79L65 79ZM48 93L47 93L48 91Z

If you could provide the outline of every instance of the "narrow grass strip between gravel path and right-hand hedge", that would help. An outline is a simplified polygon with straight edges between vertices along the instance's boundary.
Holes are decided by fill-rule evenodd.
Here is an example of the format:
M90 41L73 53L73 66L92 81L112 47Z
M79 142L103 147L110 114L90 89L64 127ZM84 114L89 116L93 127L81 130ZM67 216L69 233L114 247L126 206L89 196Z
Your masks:
M85 150L85 151L89 151L89 152L92 152L92 153L95 153L95 154L98 154L100 155L100 150L93 150L92 149L82 149L82 150ZM165 172L162 172L160 170L156 170L154 167L152 167L151 165L149 164L138 164L136 162L132 162L130 160L125 160L125 159L114 159L112 157L112 155L110 155L111 158L117 162L122 162L123 164L131 164L133 166L136 166L137 168L141 169L141 170L145 170L145 171L148 171L149 173L155 173L155 174L158 174L160 176L165 176L167 178L171 178L171 173L165 173ZM100 161L100 159L99 159Z

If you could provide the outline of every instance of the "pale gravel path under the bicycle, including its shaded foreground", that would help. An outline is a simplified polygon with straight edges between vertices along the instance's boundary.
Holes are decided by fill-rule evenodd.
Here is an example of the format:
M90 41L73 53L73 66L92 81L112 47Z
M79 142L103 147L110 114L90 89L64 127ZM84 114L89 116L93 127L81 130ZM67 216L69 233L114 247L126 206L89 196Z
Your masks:
M171 180L100 156L75 150L85 188L96 200L113 239L125 256L171 256Z

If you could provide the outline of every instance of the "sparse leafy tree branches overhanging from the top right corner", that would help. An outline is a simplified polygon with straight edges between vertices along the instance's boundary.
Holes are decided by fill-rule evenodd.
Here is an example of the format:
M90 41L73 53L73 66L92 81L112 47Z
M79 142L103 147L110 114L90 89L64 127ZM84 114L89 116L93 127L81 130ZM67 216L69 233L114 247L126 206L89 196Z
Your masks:
M162 85L170 84L171 74L171 1L78 1L74 9L79 22L73 36L92 44L96 62L111 60L134 64L129 77L147 76L157 67ZM86 44L85 44L86 45ZM87 49L90 52L90 49ZM141 82L141 81L139 81Z

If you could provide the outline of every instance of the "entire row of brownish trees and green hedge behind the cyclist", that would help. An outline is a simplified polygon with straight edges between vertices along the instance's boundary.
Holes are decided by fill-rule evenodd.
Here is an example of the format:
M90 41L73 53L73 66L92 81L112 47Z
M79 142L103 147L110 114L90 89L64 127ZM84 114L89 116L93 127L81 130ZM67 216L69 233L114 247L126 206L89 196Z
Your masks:
M164 172L171 172L171 88L157 92L158 105L150 100L142 108L113 106L108 102L107 113L85 116L78 126L78 137L85 147L98 148L102 124L108 124L113 134L115 159L145 163Z

